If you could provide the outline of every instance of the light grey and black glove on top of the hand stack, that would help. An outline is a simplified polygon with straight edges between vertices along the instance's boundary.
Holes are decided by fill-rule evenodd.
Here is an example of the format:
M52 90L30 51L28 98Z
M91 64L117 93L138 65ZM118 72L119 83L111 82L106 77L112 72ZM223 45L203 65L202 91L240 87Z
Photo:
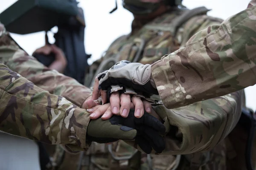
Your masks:
M126 60L117 62L111 69L98 74L99 89L108 90L111 85L124 85L145 94L158 94L151 79L150 66Z

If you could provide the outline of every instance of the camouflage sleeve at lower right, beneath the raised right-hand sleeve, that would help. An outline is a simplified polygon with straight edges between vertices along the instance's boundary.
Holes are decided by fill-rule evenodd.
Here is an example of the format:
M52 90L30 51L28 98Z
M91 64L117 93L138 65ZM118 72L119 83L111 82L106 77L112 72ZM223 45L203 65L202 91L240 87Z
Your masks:
M236 126L241 116L244 91L167 109L154 108L168 127L163 154L208 151L219 144Z

